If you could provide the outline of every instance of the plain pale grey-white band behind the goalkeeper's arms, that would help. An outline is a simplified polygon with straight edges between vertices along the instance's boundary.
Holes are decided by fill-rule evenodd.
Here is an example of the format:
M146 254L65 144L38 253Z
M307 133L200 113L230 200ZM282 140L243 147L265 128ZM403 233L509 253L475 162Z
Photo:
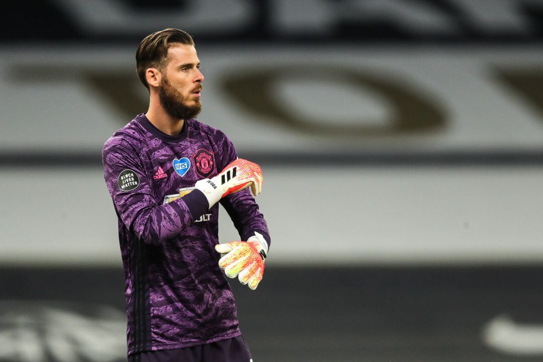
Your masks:
M264 166L269 263L543 261L543 170ZM120 265L103 170L2 169L0 263ZM238 238L220 211L220 240Z

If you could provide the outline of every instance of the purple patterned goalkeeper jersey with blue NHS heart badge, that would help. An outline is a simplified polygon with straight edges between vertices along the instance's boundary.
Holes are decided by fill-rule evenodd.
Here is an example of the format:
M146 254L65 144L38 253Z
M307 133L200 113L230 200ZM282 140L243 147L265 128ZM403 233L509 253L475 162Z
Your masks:
M223 132L185 121L163 134L145 114L104 145L105 181L118 217L126 277L128 354L202 345L241 334L236 305L218 266L218 204L199 190L166 195L217 175L237 157ZM242 240L269 232L249 188L221 201ZM231 240L229 240L231 241Z

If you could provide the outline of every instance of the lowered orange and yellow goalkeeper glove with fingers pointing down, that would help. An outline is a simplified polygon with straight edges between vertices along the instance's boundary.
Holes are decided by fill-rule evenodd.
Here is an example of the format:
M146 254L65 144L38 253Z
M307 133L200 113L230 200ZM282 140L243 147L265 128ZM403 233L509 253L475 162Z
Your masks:
M262 234L255 232L247 242L231 242L215 245L215 250L226 254L219 259L219 266L224 269L226 276L248 284L255 290L264 275L264 259L268 252L268 243Z

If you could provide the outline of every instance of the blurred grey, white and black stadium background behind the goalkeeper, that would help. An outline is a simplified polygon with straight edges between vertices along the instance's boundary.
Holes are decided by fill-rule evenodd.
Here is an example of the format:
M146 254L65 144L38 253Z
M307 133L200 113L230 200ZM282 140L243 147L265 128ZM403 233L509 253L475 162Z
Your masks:
M254 360L543 360L543 1L47 0L0 23L0 361L126 360L106 139L144 36L261 164ZM220 216L222 242L238 238ZM258 307L256 307L258 306Z

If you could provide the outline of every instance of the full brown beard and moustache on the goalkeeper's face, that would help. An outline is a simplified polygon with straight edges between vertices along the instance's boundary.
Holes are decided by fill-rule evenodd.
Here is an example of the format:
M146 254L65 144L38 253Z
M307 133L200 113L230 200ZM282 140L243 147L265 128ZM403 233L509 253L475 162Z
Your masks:
M201 89L201 85L198 85L195 89ZM195 99L194 105L186 105L185 97L172 86L166 77L162 78L160 82L159 99L166 113L170 117L177 119L195 118L202 109L198 98Z

